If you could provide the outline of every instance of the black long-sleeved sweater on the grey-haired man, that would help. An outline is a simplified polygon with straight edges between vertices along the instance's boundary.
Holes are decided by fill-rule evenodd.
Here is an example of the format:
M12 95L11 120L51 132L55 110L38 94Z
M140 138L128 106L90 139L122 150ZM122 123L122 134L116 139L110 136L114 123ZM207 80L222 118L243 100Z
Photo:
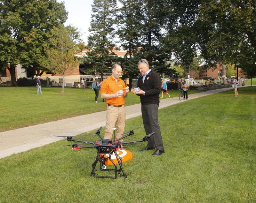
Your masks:
M140 102L142 105L157 104L159 105L159 94L161 92L161 77L154 71L150 71L146 76L144 83L142 76L138 79L138 86L145 92L140 96Z

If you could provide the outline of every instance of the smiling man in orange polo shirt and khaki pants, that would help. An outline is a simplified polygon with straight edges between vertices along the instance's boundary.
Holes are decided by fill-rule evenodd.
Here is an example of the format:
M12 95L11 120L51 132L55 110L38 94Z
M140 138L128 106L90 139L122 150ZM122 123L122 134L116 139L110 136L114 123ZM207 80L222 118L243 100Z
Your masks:
M124 132L126 113L124 111L124 97L127 97L129 87L119 78L122 68L119 64L112 66L112 75L102 82L101 98L106 99L107 121L104 139L111 139L113 128L116 126L116 137L118 139ZM123 140L120 140L121 142Z

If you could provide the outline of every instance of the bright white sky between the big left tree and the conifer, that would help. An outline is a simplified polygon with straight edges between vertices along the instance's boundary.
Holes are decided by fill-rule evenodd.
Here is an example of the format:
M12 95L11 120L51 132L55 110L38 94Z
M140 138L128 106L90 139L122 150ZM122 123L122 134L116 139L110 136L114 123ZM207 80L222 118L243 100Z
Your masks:
M93 0L57 0L57 2L64 2L66 11L68 11L65 26L72 25L78 28L82 34L82 39L87 44Z

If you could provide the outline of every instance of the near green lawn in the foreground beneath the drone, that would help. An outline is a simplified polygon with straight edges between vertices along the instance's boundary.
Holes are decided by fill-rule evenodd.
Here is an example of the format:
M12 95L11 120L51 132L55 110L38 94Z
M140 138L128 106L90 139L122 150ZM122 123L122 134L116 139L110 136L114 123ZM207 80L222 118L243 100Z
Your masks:
M139 152L146 143L126 146L133 159L123 163L124 183L90 177L96 150L61 147L66 140L3 158L0 202L256 202L256 86L233 95L160 109L165 153ZM128 119L125 131L140 125L141 116ZM125 140L143 136L139 128ZM92 132L76 138L99 139Z

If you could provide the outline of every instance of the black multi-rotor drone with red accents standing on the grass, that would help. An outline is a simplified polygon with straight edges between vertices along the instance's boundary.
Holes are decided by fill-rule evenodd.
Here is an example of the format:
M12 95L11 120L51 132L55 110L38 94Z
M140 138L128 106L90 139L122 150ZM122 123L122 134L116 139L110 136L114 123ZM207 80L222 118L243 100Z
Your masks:
M68 141L74 141L74 142L80 142L78 144L72 144L72 149L73 150L79 150L79 149L84 149L84 148L96 148L97 149L97 156L95 158L95 161L92 164L92 172L91 172L91 176L93 177L101 177L101 178L117 178L117 173L120 176L124 176L124 179L127 178L127 175L124 172L124 169L122 167L122 158L118 155L118 153L116 152L117 150L121 150L122 146L125 145L131 145L134 144L136 142L146 142L148 141L148 138L154 134L155 132L152 132L148 135L146 135L145 137L143 137L142 139L139 140L133 140L133 141L127 141L127 142L120 142L121 139L124 139L130 135L133 135L134 132L133 130L130 130L128 132L124 132L121 138L118 139L103 139L103 137L100 135L100 130L101 130L102 126L96 130L96 132L94 132L93 135L97 134L100 137L100 140L96 140L95 142L91 142L91 141L85 141L85 140L78 140L78 139L73 139L72 136L58 136L57 137L67 137ZM81 146L83 144L92 144L92 145L87 145L87 146ZM71 146L71 145L68 145ZM111 157L116 157L117 163L115 163L113 161L113 159ZM115 169L107 169L106 166L106 162L110 160L110 163L112 163L112 165L114 165ZM97 163L100 163L100 171L113 171L115 172L115 176L99 176L97 174L95 174L95 167L97 165ZM119 169L118 169L119 166Z

